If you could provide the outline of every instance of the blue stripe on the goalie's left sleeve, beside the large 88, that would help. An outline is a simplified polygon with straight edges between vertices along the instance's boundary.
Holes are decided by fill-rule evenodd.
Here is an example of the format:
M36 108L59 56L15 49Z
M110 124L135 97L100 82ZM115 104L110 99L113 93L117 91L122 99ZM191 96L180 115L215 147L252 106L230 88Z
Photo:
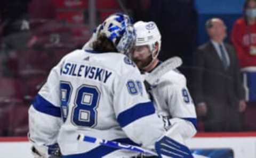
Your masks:
M33 107L39 112L43 112L43 113L46 113L48 115L55 116L55 117L61 117L60 108L53 106L52 103L45 100L39 94L37 94L35 96L35 99L33 102Z

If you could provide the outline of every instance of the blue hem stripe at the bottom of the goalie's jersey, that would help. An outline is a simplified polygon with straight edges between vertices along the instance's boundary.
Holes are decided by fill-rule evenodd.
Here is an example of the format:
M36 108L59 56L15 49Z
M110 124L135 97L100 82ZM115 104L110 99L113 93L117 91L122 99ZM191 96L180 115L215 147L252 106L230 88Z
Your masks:
M131 139L129 139L129 138L119 138L119 139L114 139L112 141L139 146L138 144L132 142ZM95 147L95 148L93 148L93 150L90 150L89 152L86 152L86 153L66 155L66 156L62 155L61 157L62 158L91 158L91 157L99 158L99 157L106 156L107 154L110 154L111 152L114 152L116 150L119 150L119 149L100 145L100 146Z

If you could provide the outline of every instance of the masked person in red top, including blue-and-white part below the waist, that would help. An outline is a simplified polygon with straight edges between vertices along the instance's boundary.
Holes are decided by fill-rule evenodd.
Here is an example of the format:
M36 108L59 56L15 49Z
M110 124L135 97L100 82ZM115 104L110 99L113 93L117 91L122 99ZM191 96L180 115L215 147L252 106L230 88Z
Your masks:
M243 72L246 101L256 102L256 0L246 0L244 16L231 31L231 41Z

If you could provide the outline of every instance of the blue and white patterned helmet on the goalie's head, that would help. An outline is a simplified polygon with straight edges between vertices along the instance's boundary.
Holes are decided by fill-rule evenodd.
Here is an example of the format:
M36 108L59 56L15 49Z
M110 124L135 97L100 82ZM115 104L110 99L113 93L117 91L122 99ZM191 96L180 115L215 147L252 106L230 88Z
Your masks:
M133 48L136 40L135 30L132 19L122 13L110 15L100 26L98 36L105 33L111 40L117 51L122 54L128 54Z

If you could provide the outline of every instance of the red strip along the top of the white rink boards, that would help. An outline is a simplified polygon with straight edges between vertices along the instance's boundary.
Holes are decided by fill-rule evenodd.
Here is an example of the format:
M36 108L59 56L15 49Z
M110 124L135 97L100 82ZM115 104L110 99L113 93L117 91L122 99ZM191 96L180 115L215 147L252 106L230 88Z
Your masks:
M201 137L256 137L256 132L241 133L197 133L197 138ZM0 137L0 142L28 142L27 137Z

